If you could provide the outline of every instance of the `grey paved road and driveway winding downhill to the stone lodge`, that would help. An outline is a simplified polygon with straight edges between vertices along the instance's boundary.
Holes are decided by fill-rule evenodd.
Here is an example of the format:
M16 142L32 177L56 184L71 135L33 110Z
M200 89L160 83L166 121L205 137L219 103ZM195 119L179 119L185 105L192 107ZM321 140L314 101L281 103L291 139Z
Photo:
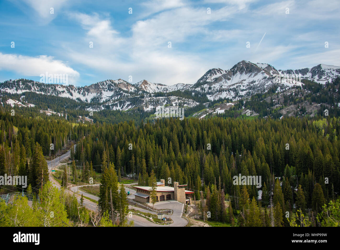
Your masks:
M64 155L60 156L60 158L59 157L55 158L54 165L57 166L61 161L69 158L70 153L71 153L71 150L68 150ZM47 161L47 166L48 166L48 171L49 171L49 178L52 181L53 186L60 189L61 188L60 183L58 181L56 181L52 176L52 172L51 172L52 161ZM92 185L99 185L99 184L92 184ZM82 185L82 186L87 186L87 185ZM84 191L79 190L78 187L81 187L81 186L70 187L70 190L68 192L70 194L73 194L73 193L77 194L77 191L78 191L78 201L79 201L79 203L80 203L80 198L81 198L82 194L83 194L83 196L89 197L89 198L94 199L94 200L99 199L95 195L92 195L92 194L89 194L89 193L86 193ZM134 194L136 193L135 190L129 189L129 187L125 187L125 191L126 191L126 193L128 191L130 191L130 195L128 196L128 198L130 198L130 199L135 198L135 196L134 196ZM97 203L92 202L92 201L90 201L86 198L84 198L83 204L89 210L92 210L92 211L97 210ZM129 208L130 207L131 206L129 206ZM186 219L181 217L182 212L183 212L183 207L184 207L184 205L180 202L169 202L169 203L163 203L163 204L158 204L158 205L157 205L157 203L155 204L156 209L172 209L173 210L173 214L170 216L171 219L173 220L173 223L170 224L170 227L184 227L187 224ZM133 208L135 208L139 211L142 211L142 212L156 213L156 212L152 212L152 211L141 209L141 208L136 208L136 207L133 207ZM169 225L166 226L166 225L155 224L155 223L147 220L146 218L143 218L143 217L140 217L140 216L137 216L137 215L133 215L133 217L128 218L128 220L129 221L133 220L135 227L169 227Z

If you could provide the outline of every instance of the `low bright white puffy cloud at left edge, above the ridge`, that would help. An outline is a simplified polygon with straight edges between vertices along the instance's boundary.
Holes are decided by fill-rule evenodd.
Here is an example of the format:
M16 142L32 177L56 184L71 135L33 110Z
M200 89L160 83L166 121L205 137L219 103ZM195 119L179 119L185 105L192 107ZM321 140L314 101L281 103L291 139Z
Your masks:
M67 74L69 84L74 84L79 73L68 67L61 60L54 60L52 56L37 57L0 52L0 70L14 71L25 76L40 76L40 74Z

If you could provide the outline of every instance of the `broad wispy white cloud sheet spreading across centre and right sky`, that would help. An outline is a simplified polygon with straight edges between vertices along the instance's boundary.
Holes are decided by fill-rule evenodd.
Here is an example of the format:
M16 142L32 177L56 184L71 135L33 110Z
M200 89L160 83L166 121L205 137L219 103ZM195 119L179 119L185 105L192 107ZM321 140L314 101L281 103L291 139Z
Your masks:
M212 0L209 2L228 5L220 8L211 6L211 14L207 14L206 6L193 7L196 5L180 0L162 1L163 5L154 6L156 2L158 0L141 3L154 15L136 19L131 29L122 31L123 34L118 32L119 27L114 26L109 16L70 14L85 30L82 41L76 44L86 46L65 47L65 56L101 72L101 78L127 80L132 75L134 83L147 79L168 85L178 82L193 84L209 68L227 69L241 59L270 63L277 68L286 65L290 68L307 67L311 61L317 65L318 59L322 58L321 62L325 64L336 64L331 59L335 55L331 55L330 62L325 61L325 55L317 55L313 60L311 57L296 57L308 53L305 44L301 46L301 41L313 41L307 38L310 35L316 38L313 32L317 32L297 32L309 25L305 18L301 18L300 12L299 15L292 14L301 7L300 2L281 1L249 11L246 7L255 2L253 0ZM332 1L332 6L337 4ZM290 15L285 14L286 7L290 8ZM311 6L308 5L308 8ZM285 15L284 22L282 15ZM265 32L266 37L255 52ZM321 37L323 34L320 32ZM93 49L88 48L89 41L94 42ZM169 41L172 48L168 48ZM251 42L251 49L245 47L246 41ZM192 47L198 48L197 53L191 48L186 49L190 42ZM220 43L221 47L216 48L214 42ZM202 48L207 48L207 51ZM337 51L334 53L339 55ZM300 60L300 65L296 64L295 58Z

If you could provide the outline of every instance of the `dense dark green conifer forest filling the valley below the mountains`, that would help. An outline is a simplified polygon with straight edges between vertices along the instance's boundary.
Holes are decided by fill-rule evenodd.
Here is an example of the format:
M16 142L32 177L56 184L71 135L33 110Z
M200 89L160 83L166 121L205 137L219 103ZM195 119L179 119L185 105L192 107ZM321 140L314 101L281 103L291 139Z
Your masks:
M120 207L124 198L119 198L117 178L129 176L147 186L155 173L157 180L171 178L170 185L187 184L194 192L192 199L201 201L201 219L208 221L229 226L338 225L339 118L165 118L139 124L132 120L75 124L33 113L18 109L11 115L6 108L0 113L0 171L27 175L29 186L23 192L39 194L41 183L48 180L45 157L74 143L71 158L89 173L77 178L102 175L99 207L107 218L111 202L115 214L126 213ZM261 176L261 186L235 185L234 176L239 174ZM1 186L0 191L22 190ZM110 191L114 201L107 198ZM82 221L77 209L71 209L77 199L66 200L63 197L65 216ZM83 214L88 223L89 211L84 209ZM124 216L118 225L125 223ZM1 221L15 225L4 217Z

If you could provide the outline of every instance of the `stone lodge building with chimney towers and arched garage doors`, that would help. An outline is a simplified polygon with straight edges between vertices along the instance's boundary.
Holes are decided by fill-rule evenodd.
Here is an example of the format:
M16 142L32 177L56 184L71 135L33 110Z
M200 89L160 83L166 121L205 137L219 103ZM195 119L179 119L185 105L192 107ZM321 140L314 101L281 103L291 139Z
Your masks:
M192 191L185 190L186 185L179 185L178 182L173 183L173 187L166 186L165 180L161 179L160 182L157 182L157 201L165 201L165 200L177 200L184 204L191 204L191 195ZM134 194L135 200L144 203L151 203L150 200L150 191L151 186L134 186L137 191Z

